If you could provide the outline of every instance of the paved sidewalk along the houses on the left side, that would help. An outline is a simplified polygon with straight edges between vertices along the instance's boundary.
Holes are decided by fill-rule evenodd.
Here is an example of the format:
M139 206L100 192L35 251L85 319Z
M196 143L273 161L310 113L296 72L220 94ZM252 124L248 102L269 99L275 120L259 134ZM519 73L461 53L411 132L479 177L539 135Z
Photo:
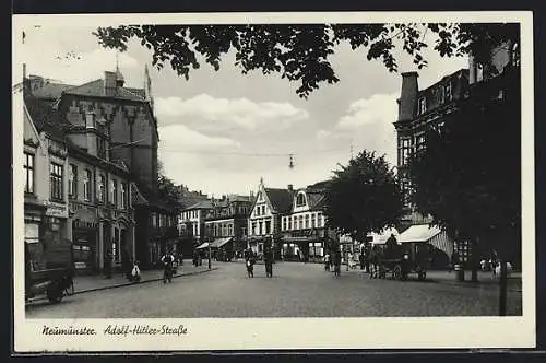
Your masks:
M217 267L212 267L212 270L216 269ZM191 264L185 264L178 267L177 274L175 274L174 278L209 271L209 267L205 265L195 267ZM141 281L139 283L161 281L162 279L163 270L141 270ZM90 291L127 286L131 284L134 284L134 282L128 281L126 274L120 272L112 273L111 279L106 279L104 276L76 276L74 278L74 293L81 294Z

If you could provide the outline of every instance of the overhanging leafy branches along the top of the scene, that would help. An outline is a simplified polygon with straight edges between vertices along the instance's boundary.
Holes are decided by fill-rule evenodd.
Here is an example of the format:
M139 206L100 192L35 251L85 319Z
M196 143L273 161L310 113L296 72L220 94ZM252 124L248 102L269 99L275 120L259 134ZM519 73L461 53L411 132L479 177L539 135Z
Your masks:
M427 33L435 35L434 49L442 57L472 52L476 61L490 66L491 50L510 40L519 44L519 24L248 24L248 25L122 25L99 27L94 34L106 48L127 50L131 38L153 51L152 63L162 69L170 65L178 75L189 78L201 66L200 58L215 70L222 58L235 52L235 65L244 74L261 70L280 73L299 82L296 93L308 97L320 84L340 79L329 61L341 43L353 50L367 49L367 60L380 60L390 72L397 71L396 47L422 69L427 66L423 51Z

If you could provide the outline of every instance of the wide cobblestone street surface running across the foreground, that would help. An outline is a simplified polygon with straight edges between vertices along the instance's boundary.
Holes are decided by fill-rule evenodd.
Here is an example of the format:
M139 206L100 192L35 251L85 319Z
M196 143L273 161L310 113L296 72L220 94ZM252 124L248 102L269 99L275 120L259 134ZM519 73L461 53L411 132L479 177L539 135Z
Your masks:
M339 278L322 265L280 262L265 278L257 265L254 278L241 262L213 262L210 272L176 278L171 284L152 281L66 297L60 304L35 303L28 318L199 318L199 317L366 317L495 316L498 286L456 283L448 272L431 272L428 281L372 280L359 270ZM486 279L482 277L482 279ZM486 281L484 281L486 282ZM519 279L511 279L508 315L521 315Z

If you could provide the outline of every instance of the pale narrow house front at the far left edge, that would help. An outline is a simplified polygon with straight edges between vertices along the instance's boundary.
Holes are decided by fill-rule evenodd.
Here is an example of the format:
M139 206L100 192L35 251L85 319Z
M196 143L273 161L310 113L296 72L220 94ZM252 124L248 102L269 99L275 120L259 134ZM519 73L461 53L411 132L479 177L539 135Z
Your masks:
M16 87L14 105L23 109L14 122L23 122L24 243L31 270L40 270L54 267L46 264L48 247L71 237L67 140L48 121L48 108L29 97L26 82Z

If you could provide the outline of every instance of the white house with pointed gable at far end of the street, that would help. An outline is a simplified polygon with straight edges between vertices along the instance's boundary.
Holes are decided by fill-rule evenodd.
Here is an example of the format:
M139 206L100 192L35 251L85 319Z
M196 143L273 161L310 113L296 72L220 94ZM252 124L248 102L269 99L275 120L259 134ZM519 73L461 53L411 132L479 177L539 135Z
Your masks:
M294 188L265 188L260 179L258 192L248 220L249 246L258 254L263 253L265 243L273 243L275 258L281 257L281 220L292 210Z

